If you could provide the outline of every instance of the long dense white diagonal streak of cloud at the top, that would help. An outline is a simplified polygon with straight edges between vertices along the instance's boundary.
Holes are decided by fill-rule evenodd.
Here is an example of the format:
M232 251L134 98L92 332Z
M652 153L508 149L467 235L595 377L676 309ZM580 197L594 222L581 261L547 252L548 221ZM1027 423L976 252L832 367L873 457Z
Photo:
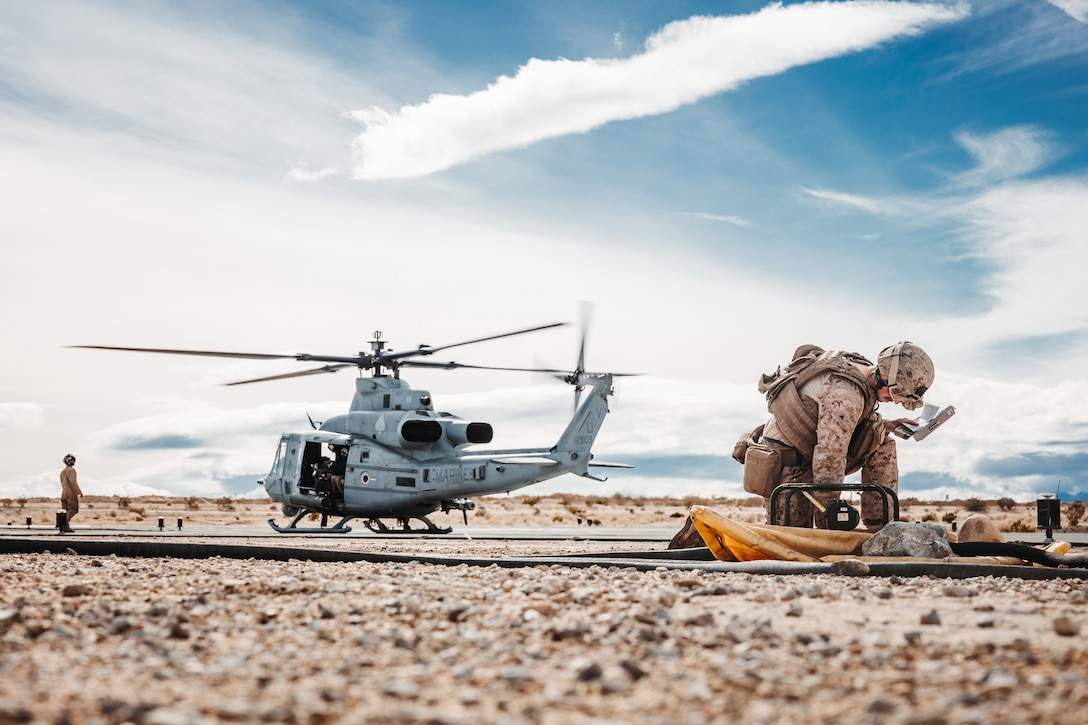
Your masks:
M354 143L354 177L422 176L494 151L681 106L879 42L960 20L964 7L904 2L772 4L743 16L691 17L666 25L628 59L531 59L468 96L435 94L396 113L350 115L366 126Z

